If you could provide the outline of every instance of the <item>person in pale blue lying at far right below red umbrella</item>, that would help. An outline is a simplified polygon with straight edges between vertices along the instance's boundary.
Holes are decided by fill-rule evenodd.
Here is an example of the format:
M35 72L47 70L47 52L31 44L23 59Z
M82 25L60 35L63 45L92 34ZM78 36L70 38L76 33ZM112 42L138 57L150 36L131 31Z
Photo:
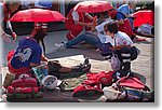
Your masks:
M143 24L139 27L135 27L137 35L144 37L154 37L154 27L149 24Z

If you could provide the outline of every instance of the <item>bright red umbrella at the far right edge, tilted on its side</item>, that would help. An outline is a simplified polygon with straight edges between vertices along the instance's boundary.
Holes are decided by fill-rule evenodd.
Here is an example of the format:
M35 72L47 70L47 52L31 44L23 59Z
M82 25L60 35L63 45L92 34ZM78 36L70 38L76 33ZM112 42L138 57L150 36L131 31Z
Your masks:
M150 10L138 11L134 13L133 16L135 17L134 27L138 27L143 24L154 25L154 13Z

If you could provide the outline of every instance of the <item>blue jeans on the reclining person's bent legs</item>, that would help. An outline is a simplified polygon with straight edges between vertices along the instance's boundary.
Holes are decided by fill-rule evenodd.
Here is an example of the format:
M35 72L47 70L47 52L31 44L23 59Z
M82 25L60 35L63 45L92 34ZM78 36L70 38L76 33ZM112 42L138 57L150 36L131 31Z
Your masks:
M96 44L102 43L100 39L96 35L93 35L91 32L84 32L84 33L78 36L77 38L68 41L66 43L66 47L71 47L71 46L77 45L78 43L80 43L82 41L85 41L86 43L89 43L91 45L96 45Z

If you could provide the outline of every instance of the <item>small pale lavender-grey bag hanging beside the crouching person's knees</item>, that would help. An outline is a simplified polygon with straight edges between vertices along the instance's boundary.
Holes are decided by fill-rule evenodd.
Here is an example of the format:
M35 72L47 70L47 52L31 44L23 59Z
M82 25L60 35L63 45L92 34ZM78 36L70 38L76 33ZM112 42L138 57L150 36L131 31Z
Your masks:
M121 61L116 53L112 54L110 64L113 71L120 70Z

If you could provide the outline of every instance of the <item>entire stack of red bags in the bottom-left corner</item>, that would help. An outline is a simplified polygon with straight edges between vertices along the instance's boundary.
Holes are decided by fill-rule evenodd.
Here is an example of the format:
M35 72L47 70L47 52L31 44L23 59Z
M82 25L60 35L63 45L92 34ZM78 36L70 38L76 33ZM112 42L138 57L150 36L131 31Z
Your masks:
M19 75L18 79L13 80L11 85L6 88L8 100L30 97L42 97L42 92L40 92L37 80L29 75Z

